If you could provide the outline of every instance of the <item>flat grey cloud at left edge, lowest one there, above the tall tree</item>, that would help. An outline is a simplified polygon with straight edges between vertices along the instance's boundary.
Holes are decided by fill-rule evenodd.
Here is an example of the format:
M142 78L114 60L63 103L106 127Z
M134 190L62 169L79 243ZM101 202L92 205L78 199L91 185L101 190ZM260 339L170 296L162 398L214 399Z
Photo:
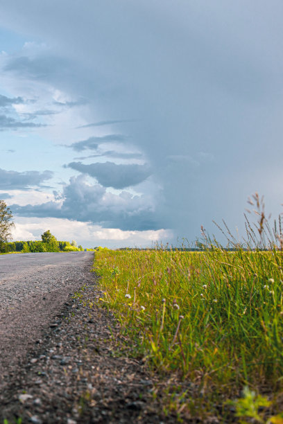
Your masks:
M33 186L42 186L42 182L51 179L53 173L50 170L25 171L18 173L13 170L3 170L0 168L0 189L1 190L29 190Z

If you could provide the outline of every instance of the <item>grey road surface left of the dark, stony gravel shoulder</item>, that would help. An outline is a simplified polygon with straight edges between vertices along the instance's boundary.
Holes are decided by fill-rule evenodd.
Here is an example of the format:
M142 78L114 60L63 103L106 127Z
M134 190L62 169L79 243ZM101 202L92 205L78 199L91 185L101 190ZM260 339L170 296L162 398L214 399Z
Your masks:
M93 257L85 251L0 256L0 391L69 294L80 288Z

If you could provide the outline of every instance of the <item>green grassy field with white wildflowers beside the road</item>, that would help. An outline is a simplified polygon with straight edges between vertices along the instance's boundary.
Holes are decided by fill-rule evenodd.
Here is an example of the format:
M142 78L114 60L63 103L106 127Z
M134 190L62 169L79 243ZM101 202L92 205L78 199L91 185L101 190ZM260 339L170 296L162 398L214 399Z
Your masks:
M255 422L264 406L282 411L282 251L99 249L94 271L131 354L170 380L165 409Z

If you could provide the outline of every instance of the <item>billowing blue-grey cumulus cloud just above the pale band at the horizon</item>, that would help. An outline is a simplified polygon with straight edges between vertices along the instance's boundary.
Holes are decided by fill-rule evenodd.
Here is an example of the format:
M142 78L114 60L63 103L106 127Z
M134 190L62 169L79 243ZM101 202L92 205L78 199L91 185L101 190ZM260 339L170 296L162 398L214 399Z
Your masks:
M132 231L162 228L155 220L151 197L134 196L126 191L114 195L99 184L87 184L83 175L72 177L61 197L62 202L51 201L35 206L12 204L10 209L12 213L26 217L68 218L100 224L104 228Z

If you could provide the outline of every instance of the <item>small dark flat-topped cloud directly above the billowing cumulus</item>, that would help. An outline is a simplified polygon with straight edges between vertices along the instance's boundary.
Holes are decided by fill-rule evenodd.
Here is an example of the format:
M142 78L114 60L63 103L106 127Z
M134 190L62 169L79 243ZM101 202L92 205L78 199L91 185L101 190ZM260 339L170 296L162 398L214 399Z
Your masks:
M96 162L85 165L81 162L71 162L67 166L96 178L104 187L113 188L136 186L151 175L148 166L137 164L117 165L114 162Z

